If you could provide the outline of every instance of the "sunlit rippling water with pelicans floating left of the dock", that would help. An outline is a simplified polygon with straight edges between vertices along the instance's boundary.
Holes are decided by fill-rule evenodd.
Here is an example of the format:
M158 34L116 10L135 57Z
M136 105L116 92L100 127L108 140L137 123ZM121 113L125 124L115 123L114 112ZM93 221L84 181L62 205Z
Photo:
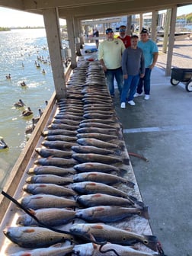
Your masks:
M16 109L14 103L22 99L34 112L34 117L38 117L38 109L46 107L45 101L50 100L55 88L51 66L43 62L40 62L40 69L35 66L37 56L50 60L44 29L0 32L0 56L0 136L9 147L0 150L0 187L3 187L24 149L25 130L31 123L31 118L26 120L21 116L24 109ZM11 80L6 79L8 74ZM21 87L23 81L27 88Z

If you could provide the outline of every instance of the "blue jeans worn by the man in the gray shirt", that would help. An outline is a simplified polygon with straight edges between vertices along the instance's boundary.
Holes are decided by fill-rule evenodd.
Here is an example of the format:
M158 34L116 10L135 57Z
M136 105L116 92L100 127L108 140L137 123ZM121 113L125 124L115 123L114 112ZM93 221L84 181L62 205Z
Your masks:
M128 91L130 91L128 96L128 101L133 101L138 82L139 82L139 75L128 75L128 78L124 79L124 85L123 85L120 102L126 102L126 95Z

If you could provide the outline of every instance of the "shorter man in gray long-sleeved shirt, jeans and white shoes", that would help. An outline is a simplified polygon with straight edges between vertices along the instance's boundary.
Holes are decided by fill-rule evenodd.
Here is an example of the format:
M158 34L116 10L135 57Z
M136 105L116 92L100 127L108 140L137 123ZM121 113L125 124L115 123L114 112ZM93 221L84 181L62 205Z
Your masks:
M122 70L124 85L120 98L120 107L126 107L126 97L128 94L128 103L132 106L135 105L133 101L136 87L139 83L139 78L145 75L145 61L142 50L137 46L139 37L134 35L131 37L131 46L126 48L122 56Z

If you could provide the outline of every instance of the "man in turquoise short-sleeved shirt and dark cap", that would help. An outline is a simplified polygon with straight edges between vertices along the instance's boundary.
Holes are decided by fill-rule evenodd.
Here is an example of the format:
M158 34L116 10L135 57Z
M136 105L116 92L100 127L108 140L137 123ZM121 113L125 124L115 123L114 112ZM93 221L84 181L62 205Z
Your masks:
M142 86L144 86L145 100L150 98L150 84L151 84L151 72L158 59L158 46L155 42L149 39L149 32L146 28L143 28L141 33L141 40L138 43L138 47L142 49L145 59L145 76L140 78L139 85L134 97L142 96Z

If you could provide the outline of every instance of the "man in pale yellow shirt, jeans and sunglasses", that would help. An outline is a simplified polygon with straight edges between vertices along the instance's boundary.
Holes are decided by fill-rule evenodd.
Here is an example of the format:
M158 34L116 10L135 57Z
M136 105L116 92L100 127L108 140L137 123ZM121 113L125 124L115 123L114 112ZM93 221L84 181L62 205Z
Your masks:
M114 31L111 28L106 30L107 39L99 44L98 60L103 66L107 85L111 98L114 98L114 78L117 81L118 90L121 95L123 88L123 72L121 69L121 57L125 46L122 40L114 38Z

